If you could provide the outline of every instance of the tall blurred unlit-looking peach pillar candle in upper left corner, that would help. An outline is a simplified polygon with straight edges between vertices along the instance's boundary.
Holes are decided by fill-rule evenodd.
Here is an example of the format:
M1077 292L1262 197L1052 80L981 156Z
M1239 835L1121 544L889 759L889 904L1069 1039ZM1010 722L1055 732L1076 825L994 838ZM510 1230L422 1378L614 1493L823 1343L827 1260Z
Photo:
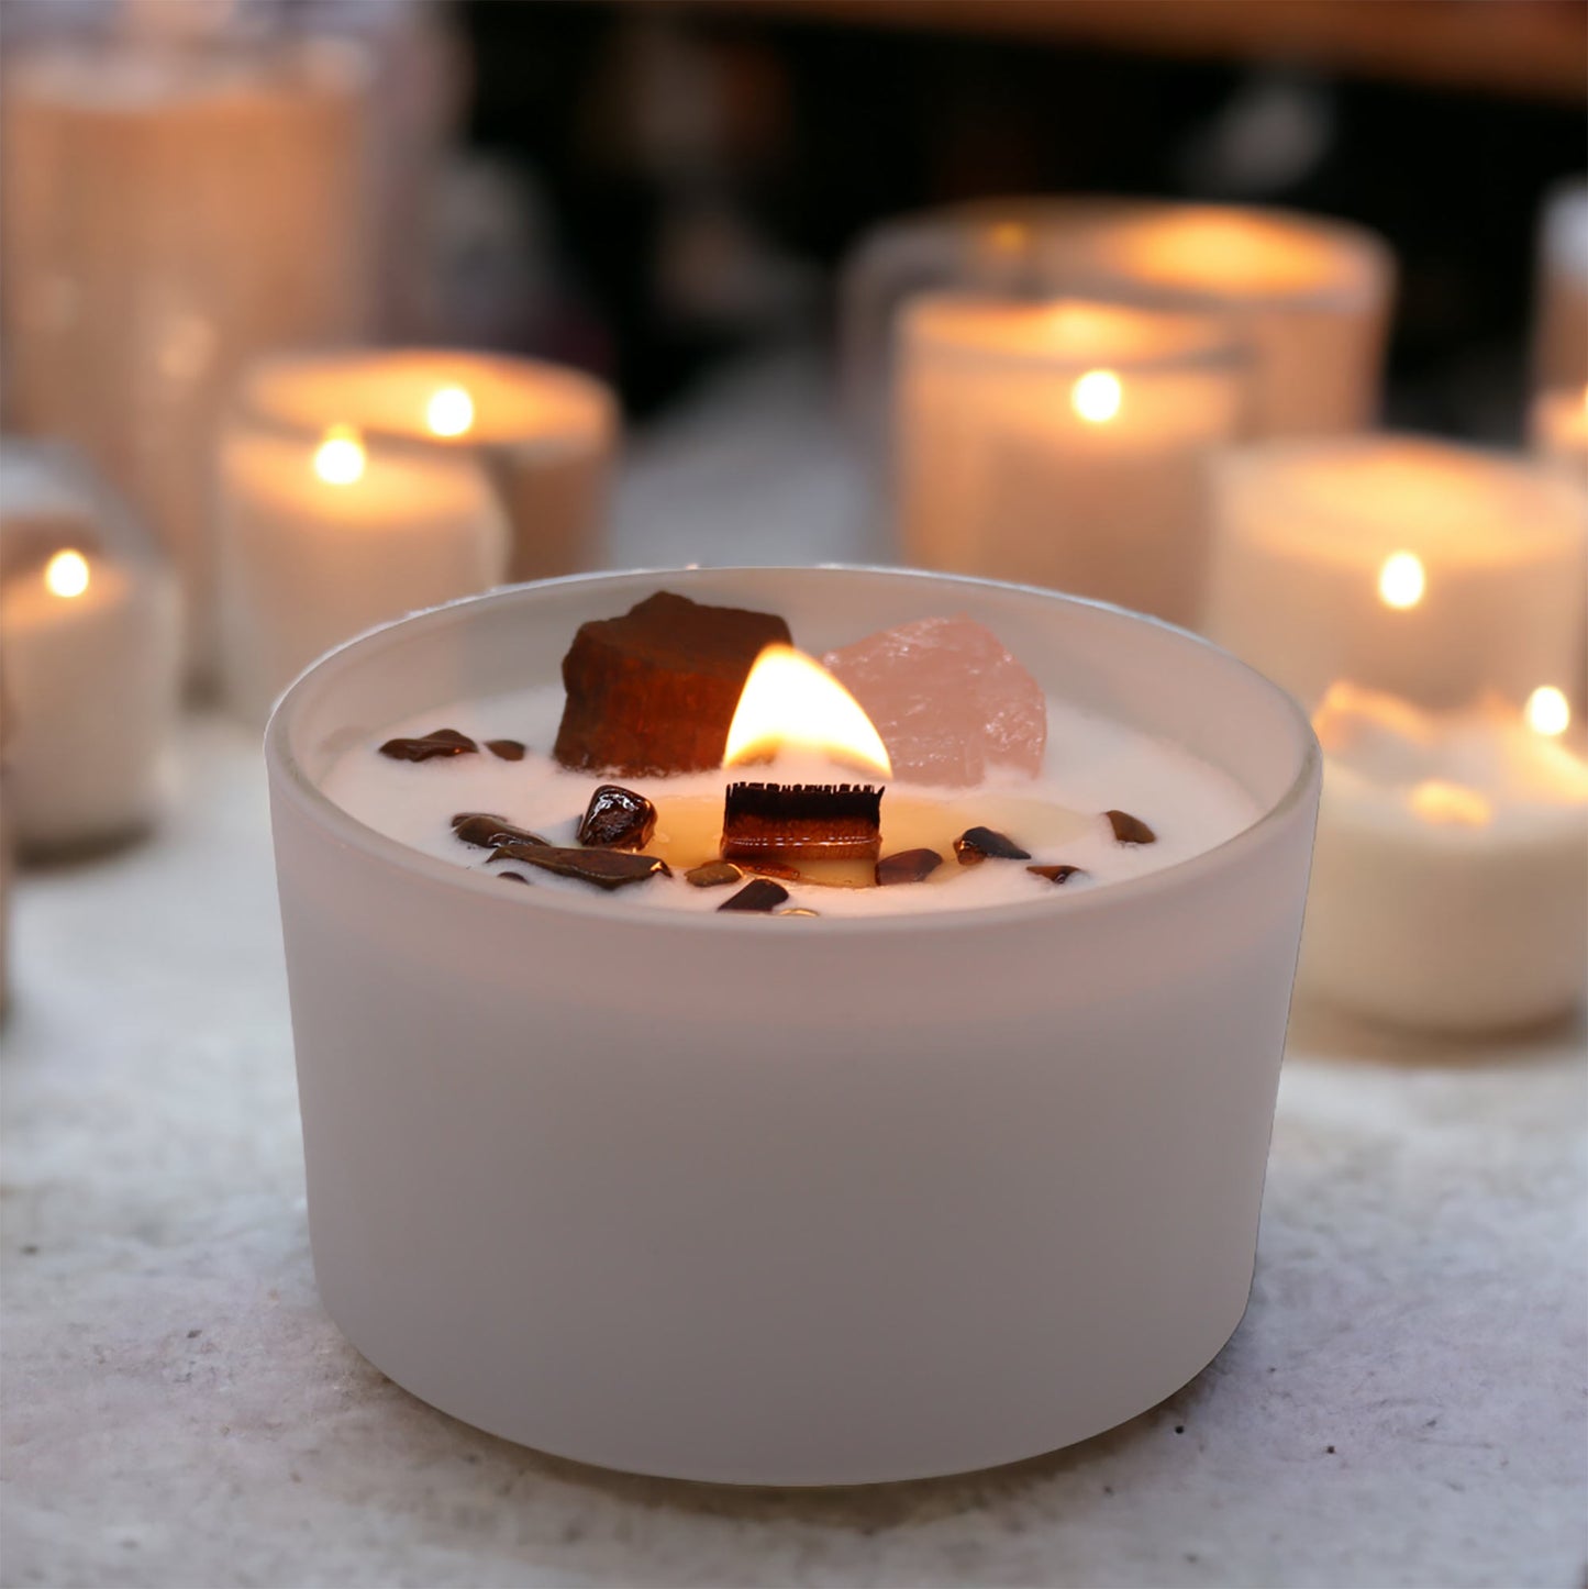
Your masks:
M362 116L347 46L129 37L5 76L10 410L81 445L168 548L200 663L223 394L262 350L361 327Z

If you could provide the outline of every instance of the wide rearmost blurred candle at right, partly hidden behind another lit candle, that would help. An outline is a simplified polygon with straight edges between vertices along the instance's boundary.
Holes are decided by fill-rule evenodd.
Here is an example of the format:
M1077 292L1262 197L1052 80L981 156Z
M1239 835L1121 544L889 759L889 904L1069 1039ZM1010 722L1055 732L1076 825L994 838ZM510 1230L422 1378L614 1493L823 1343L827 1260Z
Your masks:
M1253 358L1251 432L1283 435L1372 421L1394 259L1361 227L1276 210L1013 199L895 219L855 249L839 292L862 424L892 385L901 307L947 288L1224 316Z

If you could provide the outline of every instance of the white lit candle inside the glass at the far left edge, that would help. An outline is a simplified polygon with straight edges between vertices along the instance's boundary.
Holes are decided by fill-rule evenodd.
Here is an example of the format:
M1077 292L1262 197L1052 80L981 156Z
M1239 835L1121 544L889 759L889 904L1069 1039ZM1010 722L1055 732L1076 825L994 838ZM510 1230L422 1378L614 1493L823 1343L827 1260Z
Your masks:
M6 806L24 850L119 839L159 812L180 623L161 570L60 551L0 586Z

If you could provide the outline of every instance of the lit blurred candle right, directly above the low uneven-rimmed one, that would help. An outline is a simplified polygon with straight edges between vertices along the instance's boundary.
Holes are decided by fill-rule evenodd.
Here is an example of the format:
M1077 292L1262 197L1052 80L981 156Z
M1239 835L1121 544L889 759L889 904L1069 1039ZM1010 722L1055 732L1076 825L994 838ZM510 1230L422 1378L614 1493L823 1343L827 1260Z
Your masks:
M1214 466L1205 632L1316 706L1350 680L1427 707L1566 686L1582 494L1416 437L1268 443Z

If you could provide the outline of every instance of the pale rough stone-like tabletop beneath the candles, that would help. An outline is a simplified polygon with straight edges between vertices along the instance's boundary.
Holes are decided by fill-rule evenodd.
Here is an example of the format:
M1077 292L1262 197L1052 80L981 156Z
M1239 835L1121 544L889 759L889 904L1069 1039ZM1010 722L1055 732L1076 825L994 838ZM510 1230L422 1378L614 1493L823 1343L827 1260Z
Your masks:
M679 556L658 523L623 555ZM16 893L5 1584L1582 1584L1580 1026L1299 1019L1246 1320L1113 1433L870 1490L606 1475L412 1400L320 1311L262 769L215 720L183 750L178 823Z

